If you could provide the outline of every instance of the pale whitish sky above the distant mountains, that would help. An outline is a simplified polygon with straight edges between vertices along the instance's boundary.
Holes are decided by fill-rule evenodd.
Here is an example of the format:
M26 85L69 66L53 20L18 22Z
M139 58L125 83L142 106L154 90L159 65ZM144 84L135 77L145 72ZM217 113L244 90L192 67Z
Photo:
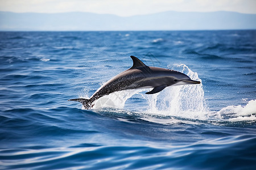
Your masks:
M93 12L118 16L164 11L235 11L256 14L256 0L0 0L0 11Z

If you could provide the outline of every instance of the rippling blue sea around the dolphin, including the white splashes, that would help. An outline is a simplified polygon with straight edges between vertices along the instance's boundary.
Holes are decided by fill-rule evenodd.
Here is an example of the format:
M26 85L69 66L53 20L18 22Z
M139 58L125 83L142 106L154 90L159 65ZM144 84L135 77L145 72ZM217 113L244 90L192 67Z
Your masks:
M90 97L134 55L202 83ZM0 169L255 169L256 31L0 32Z

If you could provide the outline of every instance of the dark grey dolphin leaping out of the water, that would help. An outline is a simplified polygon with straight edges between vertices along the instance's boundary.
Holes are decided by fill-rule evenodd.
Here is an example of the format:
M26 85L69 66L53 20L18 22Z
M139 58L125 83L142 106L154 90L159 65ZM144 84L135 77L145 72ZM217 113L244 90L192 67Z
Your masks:
M164 69L160 67L146 66L137 57L130 56L133 59L133 66L115 75L108 80L90 97L90 99L69 99L68 101L79 101L85 109L93 107L93 102L102 96L109 95L115 91L153 88L146 94L156 94L168 86L179 86L184 84L200 84L201 82L191 80L189 76L179 71Z

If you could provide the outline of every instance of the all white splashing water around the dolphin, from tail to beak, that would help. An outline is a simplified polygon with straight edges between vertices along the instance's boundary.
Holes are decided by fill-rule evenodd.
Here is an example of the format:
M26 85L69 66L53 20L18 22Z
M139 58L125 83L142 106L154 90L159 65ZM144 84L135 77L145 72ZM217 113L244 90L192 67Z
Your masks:
M191 71L186 65L174 65L171 69L180 70L181 73L187 74L191 79L201 82L197 73ZM93 108L123 109L127 99L135 94L140 94L142 91L145 90L114 92L98 99ZM147 95L143 93L141 96L147 100L147 113L205 119L206 107L202 84L167 87L157 94Z

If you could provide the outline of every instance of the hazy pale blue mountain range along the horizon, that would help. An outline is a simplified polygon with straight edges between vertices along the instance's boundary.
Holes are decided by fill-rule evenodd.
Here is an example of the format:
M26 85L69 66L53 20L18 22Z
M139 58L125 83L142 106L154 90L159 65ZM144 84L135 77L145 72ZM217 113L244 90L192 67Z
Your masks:
M122 17L89 12L0 12L0 31L148 31L256 29L256 14L176 12Z

